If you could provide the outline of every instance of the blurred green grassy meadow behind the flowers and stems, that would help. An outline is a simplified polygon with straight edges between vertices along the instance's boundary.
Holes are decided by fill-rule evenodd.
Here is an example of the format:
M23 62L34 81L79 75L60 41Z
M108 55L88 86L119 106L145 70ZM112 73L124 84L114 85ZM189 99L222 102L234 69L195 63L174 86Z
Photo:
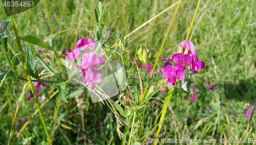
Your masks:
M113 26L112 32L119 31L125 36L177 1L110 0L101 2L105 9L103 26ZM202 12L215 3L220 4L220 13L214 38L202 58L202 61L207 63L206 68L188 79L188 92L184 92L181 88L175 90L166 112L169 120L164 122L164 129L161 132L164 138L174 138L175 135L183 136L184 130L189 130L188 134L191 138L219 140L219 138L229 138L234 134L241 137L252 115L253 105L256 102L256 3L254 0L202 1L195 22ZM44 0L34 8L16 14L14 18L24 35L33 35L42 40L59 31L72 28L93 30L95 28L93 25L96 23L94 9L97 9L97 4L98 1ZM163 48L161 59L175 54L179 43L185 40L196 6L197 1L184 0L182 2ZM166 11L130 36L131 45L142 38L141 42L151 49L152 57L147 60L148 64L154 64L176 9L174 7ZM218 6L204 15L191 39L195 44L199 59L214 31L217 10ZM10 19L6 17L2 3L0 4L0 18L4 21ZM12 27L8 26L7 29L10 32L8 35L14 36ZM93 39L94 36L86 31L68 31L54 37L54 46L61 57L65 58L67 50L73 50L77 40L81 38ZM116 39L116 35L113 38ZM11 43L13 41L10 38L8 40ZM112 39L108 40L109 46L115 43ZM26 50L25 43L22 45ZM135 49L136 47L131 48L134 51ZM51 66L55 65L54 67L59 72L66 72L66 67L61 63L52 63L51 51L40 47L36 50L47 63ZM8 52L13 55L11 49ZM114 60L120 60L120 57L115 55ZM131 67L127 55L124 55L124 63L127 64L126 69ZM160 69L163 64L164 62L159 60L156 69ZM139 65L144 64L140 62ZM40 65L37 66L39 71L44 70ZM8 67L1 51L0 67L2 69ZM24 69L19 68L18 73L25 76ZM141 69L141 71L147 72L146 69ZM147 81L147 79L148 76L144 76L142 81ZM3 82L0 90L0 144L5 144L9 138L13 114L24 84L24 81L15 78ZM54 86L55 84L46 83L48 91ZM39 96L42 95L40 92ZM44 143L42 142L44 138L42 136L45 136L44 129L40 124L38 114L23 132L19 132L20 127L23 127L25 121L30 119L36 110L34 100L27 101L29 96L30 93L27 91L22 105L19 106L11 144ZM157 93L154 96L156 99L151 100L154 107L148 105L145 115L150 131L155 126L157 113L165 96L166 94L161 92ZM111 99L116 101L118 97ZM56 105L54 100L55 98L42 108L47 119L47 126L52 124ZM127 101L129 100L131 99L128 98ZM84 104L84 106L76 107L78 104ZM90 144L120 144L117 122L110 108L100 102L93 104L87 91L79 98L70 99L69 104L62 104L61 113L63 117L58 122L57 135L54 137L56 144L83 144L81 134L87 136L87 142ZM81 117L84 119L85 132L81 129ZM247 138L255 137L255 117L252 117L250 124L246 134ZM124 127L120 127L120 130L123 132ZM212 136L213 132L214 136ZM151 137L153 136L154 132ZM138 140L139 137L137 137Z

